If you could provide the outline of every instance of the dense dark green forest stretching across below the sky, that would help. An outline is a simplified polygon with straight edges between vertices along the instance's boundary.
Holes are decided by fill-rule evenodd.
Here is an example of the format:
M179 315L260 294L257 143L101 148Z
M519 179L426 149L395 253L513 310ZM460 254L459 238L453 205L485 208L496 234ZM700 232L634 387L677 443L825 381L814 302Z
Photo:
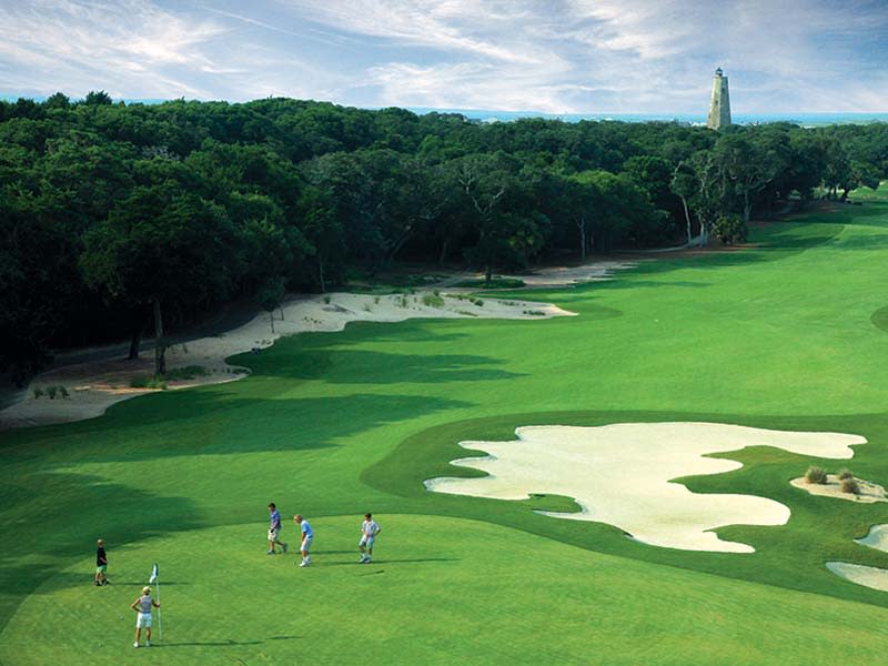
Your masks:
M717 133L481 123L331 103L0 101L0 371L138 341L236 297L272 310L352 266L519 269L552 254L743 240L787 200L888 176L888 124Z

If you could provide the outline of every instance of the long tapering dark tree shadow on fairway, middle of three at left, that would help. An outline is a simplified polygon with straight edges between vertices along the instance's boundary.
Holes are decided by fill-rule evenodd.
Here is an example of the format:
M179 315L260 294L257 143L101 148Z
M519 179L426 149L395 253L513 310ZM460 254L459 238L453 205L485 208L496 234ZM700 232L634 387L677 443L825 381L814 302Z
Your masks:
M0 461L6 466L37 462L58 454L61 447L75 451L80 458L102 462L322 450L361 431L470 406L466 401L415 394L289 400L243 397L212 389L171 396L152 394L114 405L101 418L17 433L4 443ZM216 436L220 431L224 437ZM125 437L117 446L97 442L99 435L117 433ZM34 483L43 483L39 474L34 472L31 480L16 478L11 486L3 484L0 498L28 493Z

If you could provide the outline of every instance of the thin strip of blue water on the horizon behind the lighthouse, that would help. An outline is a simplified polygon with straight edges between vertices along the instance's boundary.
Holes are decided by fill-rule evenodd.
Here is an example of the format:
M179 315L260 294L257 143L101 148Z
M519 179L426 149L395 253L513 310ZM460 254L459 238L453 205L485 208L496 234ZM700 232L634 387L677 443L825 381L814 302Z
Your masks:
M706 124L705 113L542 113L537 111L483 111L476 109L427 109L410 108L414 113L462 113L472 120L484 122L508 122L521 118L544 118L578 122L581 120L618 120L622 122L679 122L686 124ZM791 122L805 127L828 124L866 124L870 122L888 122L888 113L736 113L731 120L737 124L756 124L765 122Z

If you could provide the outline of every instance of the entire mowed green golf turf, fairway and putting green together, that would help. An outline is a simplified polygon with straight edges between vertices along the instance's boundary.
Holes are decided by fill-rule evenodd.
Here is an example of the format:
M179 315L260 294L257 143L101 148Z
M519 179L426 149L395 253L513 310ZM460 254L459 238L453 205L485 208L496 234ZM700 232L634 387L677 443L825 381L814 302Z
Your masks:
M793 509L786 526L719 531L755 545L753 555L655 548L531 511L567 498L422 487L465 473L447 465L464 455L460 440L673 420L861 434L870 443L852 461L819 464L888 483L888 333L871 321L888 305L888 205L810 214L754 240L528 296L576 317L301 335L236 357L253 369L240 382L0 435L0 663L825 664L876 654L888 595L823 564L888 566L851 541L888 514L791 488L810 458L748 450L729 455L743 470L687 480L695 492L755 493ZM315 568L264 555L269 501L313 521ZM356 564L366 511L384 527L372 567ZM99 536L114 582L102 589L90 585ZM127 606L154 561L174 583L163 592L164 643L180 645L145 656L130 646Z

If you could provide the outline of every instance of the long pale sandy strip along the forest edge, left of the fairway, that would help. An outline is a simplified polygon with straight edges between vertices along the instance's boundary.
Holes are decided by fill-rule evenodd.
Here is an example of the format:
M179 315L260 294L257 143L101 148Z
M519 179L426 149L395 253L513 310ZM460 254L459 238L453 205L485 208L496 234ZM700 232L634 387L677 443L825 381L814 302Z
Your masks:
M284 304L283 319L280 312L275 312L273 333L269 314L263 312L234 331L172 345L167 352L170 370L200 365L208 374L193 381L171 382L169 387L184 389L239 380L246 376L246 370L225 363L228 356L271 346L284 335L342 331L349 322L400 322L416 317L543 320L573 314L549 303L471 299L463 294L436 295L432 292L384 296L334 293L294 297ZM0 411L0 430L100 416L114 403L149 393L130 389L130 381L134 375L152 372L152 357L149 352L135 362L101 361L43 373L31 382L23 400ZM70 396L34 398L33 387L48 385L65 386Z

